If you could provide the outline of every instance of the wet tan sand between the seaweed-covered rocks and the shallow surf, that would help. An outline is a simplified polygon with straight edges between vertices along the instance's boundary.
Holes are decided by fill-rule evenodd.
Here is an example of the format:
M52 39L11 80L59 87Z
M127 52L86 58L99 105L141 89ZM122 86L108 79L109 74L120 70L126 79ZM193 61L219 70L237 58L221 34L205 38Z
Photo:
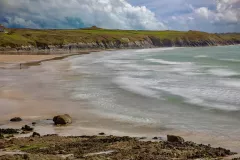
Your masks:
M17 61L17 57L16 62L20 62ZM25 124L37 122L35 130L42 135L80 136L105 132L108 135L151 139L155 136L166 138L167 134L174 134L182 136L186 140L210 143L215 147L221 146L240 152L239 141L232 141L227 137L165 130L151 125L136 126L129 122L102 117L87 102L73 101L68 98L68 93L63 85L67 84L67 80L62 80L62 76L67 74L68 67L68 61L59 60L49 61L24 70L0 69L0 128L21 128ZM67 127L54 127L52 117L65 113L73 117L73 124ZM19 123L10 123L9 119L16 116L22 117L24 120Z

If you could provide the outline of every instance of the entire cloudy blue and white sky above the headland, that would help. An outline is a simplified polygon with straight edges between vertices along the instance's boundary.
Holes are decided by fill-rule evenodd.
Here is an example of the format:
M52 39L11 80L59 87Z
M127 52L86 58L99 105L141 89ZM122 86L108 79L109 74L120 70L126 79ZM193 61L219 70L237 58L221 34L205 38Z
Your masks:
M12 28L240 32L240 0L0 0Z

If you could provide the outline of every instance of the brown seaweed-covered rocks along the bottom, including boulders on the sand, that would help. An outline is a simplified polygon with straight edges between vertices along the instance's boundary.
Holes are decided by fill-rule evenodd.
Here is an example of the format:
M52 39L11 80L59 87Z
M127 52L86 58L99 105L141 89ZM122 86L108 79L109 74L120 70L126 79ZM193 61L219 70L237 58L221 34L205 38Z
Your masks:
M22 119L15 117L10 121L16 123ZM55 116L53 122L64 127L72 123L72 119L65 114ZM185 142L174 135L168 135L166 140L106 136L105 133L79 137L41 136L34 132L35 125L37 123L33 122L21 129L0 129L0 160L218 160L236 154L224 148ZM31 136L14 137L27 133Z

